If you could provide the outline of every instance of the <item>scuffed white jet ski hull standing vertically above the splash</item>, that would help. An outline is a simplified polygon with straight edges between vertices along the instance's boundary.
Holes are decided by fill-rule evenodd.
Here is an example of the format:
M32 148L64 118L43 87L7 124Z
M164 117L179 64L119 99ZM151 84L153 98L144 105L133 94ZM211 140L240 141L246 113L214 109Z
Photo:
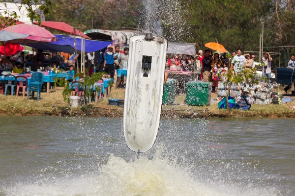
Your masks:
M123 127L127 146L136 152L153 146L160 124L167 41L154 38L134 36L129 44ZM142 69L143 59L151 59L148 71Z

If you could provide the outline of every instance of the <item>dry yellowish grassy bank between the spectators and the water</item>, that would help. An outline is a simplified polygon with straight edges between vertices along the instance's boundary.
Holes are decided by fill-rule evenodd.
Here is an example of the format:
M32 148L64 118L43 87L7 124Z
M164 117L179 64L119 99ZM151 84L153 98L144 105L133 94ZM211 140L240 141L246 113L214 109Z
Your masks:
M32 100L16 96L0 95L0 115L17 116L89 116L89 117L123 117L123 108L108 105L108 99L98 103L91 103L79 108L70 108L63 101L62 91L41 93L41 100ZM216 94L212 94L212 98ZM124 89L114 89L109 98L124 98ZM217 102L210 106L184 105L185 95L176 97L176 104L163 105L162 118L210 118L210 117L270 117L270 118L295 118L295 110L289 106L295 105L295 100L282 105L252 105L248 111L218 110Z

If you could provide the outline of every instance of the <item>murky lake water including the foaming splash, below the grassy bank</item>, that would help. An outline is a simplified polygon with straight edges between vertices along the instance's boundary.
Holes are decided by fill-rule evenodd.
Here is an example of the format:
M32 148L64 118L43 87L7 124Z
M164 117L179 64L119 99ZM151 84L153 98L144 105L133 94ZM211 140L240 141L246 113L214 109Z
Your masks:
M0 117L2 196L294 196L293 119L161 120L129 150L122 119Z

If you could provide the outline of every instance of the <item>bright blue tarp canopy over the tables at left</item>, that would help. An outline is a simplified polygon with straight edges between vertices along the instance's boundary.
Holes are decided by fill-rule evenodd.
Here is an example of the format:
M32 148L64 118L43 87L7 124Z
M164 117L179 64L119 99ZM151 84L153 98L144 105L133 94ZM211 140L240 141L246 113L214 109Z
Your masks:
M75 53L75 38L68 35L55 35L55 36L58 38L58 41L56 42L27 44L27 46L35 48L35 49L59 51L59 52L65 52L69 54ZM78 54L81 54L81 40L82 40L81 38L76 38ZM85 53L95 52L100 49L104 49L109 44L113 44L113 42L85 40Z

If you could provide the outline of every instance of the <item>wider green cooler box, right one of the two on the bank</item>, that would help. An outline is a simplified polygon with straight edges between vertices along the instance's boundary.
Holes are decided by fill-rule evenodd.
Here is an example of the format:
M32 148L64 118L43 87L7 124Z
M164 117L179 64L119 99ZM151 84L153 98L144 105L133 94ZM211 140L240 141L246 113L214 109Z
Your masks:
M188 105L210 105L211 82L190 81L186 83L186 104Z

